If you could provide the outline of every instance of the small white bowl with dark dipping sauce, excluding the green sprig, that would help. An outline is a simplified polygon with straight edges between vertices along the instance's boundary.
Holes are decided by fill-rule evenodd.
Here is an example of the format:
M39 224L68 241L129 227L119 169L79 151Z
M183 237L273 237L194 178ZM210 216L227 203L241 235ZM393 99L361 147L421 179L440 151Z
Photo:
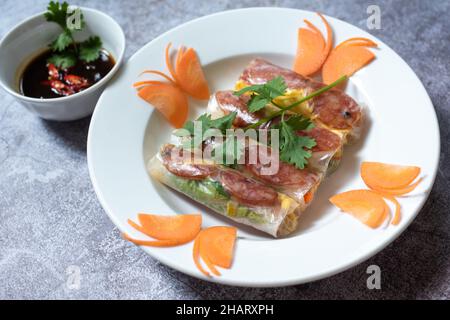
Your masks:
M88 50L84 51L84 57L93 52L98 54L95 59L92 55L90 61L76 59L75 64L58 67L56 61L49 61L55 54L53 48L49 50L49 44L59 38L62 28L57 23L47 21L45 12L21 22L0 41L0 85L28 110L44 119L70 121L90 115L107 82L122 63L125 36L119 24L94 9L81 8L81 12L87 27L73 33L77 49L81 51L81 44L95 37L101 39L102 44L85 47ZM71 46L73 44L67 48L70 50ZM61 52L56 54L60 55ZM67 57L63 60L67 60ZM108 61L105 61L106 57ZM33 76L30 80L27 72L31 71L34 64L36 67L39 64L43 69L39 69L36 77ZM50 64L56 67L57 75ZM99 68L102 69L101 72ZM35 78L34 84L31 82L32 78ZM48 82L50 80L59 80L65 87L58 86L57 83L52 86ZM47 87L49 91L32 88L45 84L50 84Z

